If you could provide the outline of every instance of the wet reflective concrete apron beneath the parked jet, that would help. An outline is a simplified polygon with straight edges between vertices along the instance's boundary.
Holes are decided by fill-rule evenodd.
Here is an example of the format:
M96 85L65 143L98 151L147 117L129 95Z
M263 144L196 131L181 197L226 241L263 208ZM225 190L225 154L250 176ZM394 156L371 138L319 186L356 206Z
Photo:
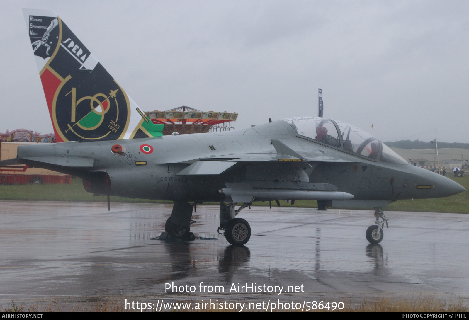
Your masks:
M245 247L217 234L218 206L197 206L191 228L218 240L166 243L171 205L0 201L0 302L84 297L185 299L353 298L432 294L467 297L469 215L386 212L371 245L371 211L252 207ZM199 293L199 284L224 294ZM165 293L165 283L194 285ZM232 284L303 285L304 292L227 292ZM302 300L303 301L303 300Z

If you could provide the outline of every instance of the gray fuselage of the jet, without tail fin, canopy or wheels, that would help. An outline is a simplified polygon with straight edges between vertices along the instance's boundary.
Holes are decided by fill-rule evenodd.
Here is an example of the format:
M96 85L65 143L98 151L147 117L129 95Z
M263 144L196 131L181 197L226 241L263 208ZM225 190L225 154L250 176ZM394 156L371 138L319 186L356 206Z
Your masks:
M302 162L275 161L279 152L272 140L297 152ZM116 144L122 146L123 153L111 152ZM150 145L152 152L143 152L142 145ZM271 161L266 160L269 157ZM30 166L95 182L101 179L99 173L107 173L110 186L100 190L98 181L97 187L89 191L131 198L224 201L217 190L225 188L225 183L250 181L329 183L354 199L389 201L446 197L465 190L451 179L423 168L383 162L379 157L371 160L299 136L284 121L226 132L22 145L18 147L18 158ZM196 161L235 164L221 173L178 174ZM207 166L210 168L210 164Z

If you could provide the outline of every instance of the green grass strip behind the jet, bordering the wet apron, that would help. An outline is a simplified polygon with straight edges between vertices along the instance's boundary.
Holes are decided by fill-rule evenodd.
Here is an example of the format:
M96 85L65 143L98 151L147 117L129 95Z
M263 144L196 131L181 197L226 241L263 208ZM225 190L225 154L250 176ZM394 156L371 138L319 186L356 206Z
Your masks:
M469 176L449 177L469 190ZM106 197L93 196L92 193L83 189L81 179L72 179L72 184L44 184L44 185L12 185L0 186L0 200L17 201L84 201L84 202L106 202ZM134 199L123 197L111 197L111 202L127 203L172 203L165 200ZM206 202L205 204L218 204ZM269 202L253 202L252 206L269 206ZM272 201L272 206L277 204ZM291 206L280 200L280 206ZM296 200L294 207L317 208L316 200ZM358 209L358 208L354 208ZM361 208L371 210L373 208ZM413 212L442 212L442 213L469 213L469 199L467 192L446 197L433 199L398 200L390 204L387 211L413 211Z

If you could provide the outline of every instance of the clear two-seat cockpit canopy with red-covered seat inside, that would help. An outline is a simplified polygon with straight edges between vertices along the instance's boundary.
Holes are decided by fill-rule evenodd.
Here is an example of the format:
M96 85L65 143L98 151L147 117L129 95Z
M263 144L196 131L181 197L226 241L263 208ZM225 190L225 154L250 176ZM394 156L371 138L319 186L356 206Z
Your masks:
M283 119L301 136L332 145L348 152L364 157L391 162L408 164L391 148L366 131L341 121L317 117L294 117Z

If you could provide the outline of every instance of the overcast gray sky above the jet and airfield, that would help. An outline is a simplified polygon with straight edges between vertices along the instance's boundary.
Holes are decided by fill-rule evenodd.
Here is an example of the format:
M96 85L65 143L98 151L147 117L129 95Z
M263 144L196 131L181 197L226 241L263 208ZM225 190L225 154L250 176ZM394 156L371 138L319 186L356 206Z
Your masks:
M52 9L145 110L318 114L469 142L469 1L0 1L0 132L53 131L21 8ZM410 139L432 140L431 133Z

